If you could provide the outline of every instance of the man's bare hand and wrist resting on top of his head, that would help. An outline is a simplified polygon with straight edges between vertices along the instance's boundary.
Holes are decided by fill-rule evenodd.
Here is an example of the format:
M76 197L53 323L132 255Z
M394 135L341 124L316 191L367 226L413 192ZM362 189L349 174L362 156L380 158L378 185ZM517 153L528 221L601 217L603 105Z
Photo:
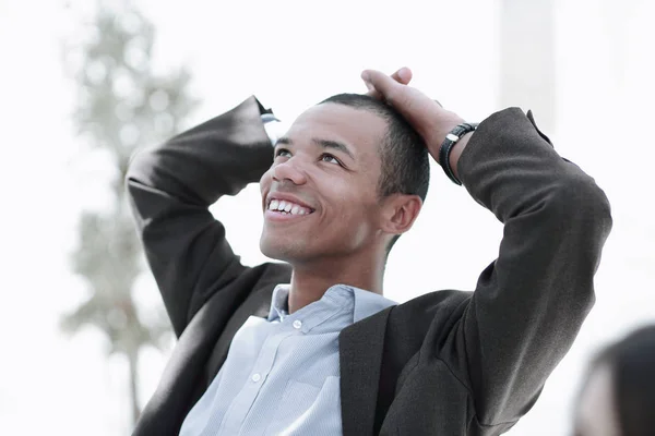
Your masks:
M383 99L397 110L422 136L430 155L439 161L439 147L445 135L464 120L420 90L407 86L412 80L408 68L402 68L391 76L365 70L361 78L368 88L367 95Z

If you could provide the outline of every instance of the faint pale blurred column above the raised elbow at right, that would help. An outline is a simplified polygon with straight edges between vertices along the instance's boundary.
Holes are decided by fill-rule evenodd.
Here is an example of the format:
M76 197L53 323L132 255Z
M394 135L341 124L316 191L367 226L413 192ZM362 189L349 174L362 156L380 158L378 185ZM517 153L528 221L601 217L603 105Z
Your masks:
M555 130L555 0L501 0L500 104L532 109Z

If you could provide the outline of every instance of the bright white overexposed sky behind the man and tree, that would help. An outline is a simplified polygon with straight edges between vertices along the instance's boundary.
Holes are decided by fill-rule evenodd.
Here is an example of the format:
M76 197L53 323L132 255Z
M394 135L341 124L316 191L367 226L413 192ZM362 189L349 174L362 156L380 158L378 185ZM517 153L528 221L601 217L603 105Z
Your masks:
M501 109L498 11L491 1L141 4L157 25L158 68L191 68L203 105L190 124L250 94L293 120L329 95L362 92L364 68L391 72L402 65L414 70L415 86L464 118L479 120ZM648 137L655 8L646 0L622 2L627 9L618 0L556 4L559 124L551 138L606 191L615 227L596 276L594 311L510 435L565 434L592 353L655 320L655 152ZM74 164L82 145L72 134L73 87L62 74L59 41L75 26L59 2L0 0L0 422L12 435L129 433L124 362L106 359L107 343L97 331L70 339L57 325L85 298L68 264L76 218L82 207L103 207L103 162ZM221 201L214 211L242 259L263 262L257 186ZM446 234L434 231L444 227ZM426 207L392 252L386 296L403 302L437 289L473 289L497 255L501 231L491 214L433 168ZM157 298L152 281L143 281L139 295ZM166 359L144 353L143 399Z

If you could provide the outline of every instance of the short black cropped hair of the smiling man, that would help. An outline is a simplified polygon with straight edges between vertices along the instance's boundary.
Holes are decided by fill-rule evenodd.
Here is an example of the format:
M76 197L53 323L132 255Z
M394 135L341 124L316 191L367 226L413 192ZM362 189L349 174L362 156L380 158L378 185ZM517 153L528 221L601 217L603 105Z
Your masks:
M378 192L381 198L392 194L418 195L425 202L430 184L430 162L422 137L384 101L361 94L337 94L319 105L333 102L368 110L386 121L386 133L380 144L381 173ZM386 254L401 235L396 234Z

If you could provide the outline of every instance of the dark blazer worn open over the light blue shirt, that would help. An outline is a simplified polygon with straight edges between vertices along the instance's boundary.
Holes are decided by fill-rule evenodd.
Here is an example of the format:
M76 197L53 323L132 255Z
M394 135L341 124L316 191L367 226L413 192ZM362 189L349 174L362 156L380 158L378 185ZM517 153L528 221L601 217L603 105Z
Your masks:
M178 434L235 332L249 316L265 317L273 288L289 281L286 264L241 265L207 209L271 166L262 110L251 97L131 162L136 225L179 337L134 435ZM505 432L537 400L594 302L608 201L529 112L481 122L458 173L504 223L499 257L475 292L431 292L342 331L346 436Z

